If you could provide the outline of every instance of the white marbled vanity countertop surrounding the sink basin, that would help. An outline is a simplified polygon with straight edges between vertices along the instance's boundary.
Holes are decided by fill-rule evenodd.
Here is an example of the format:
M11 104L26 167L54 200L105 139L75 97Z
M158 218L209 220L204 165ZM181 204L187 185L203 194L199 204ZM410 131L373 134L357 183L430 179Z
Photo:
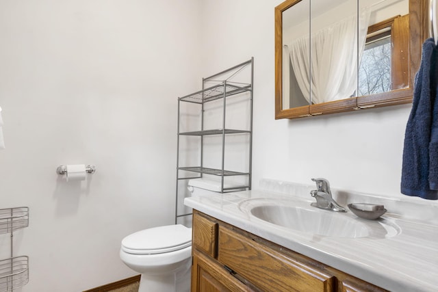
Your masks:
M240 191L192 197L185 198L184 203L218 220L389 291L437 291L438 224L433 220L415 220L406 215L409 212L392 212L387 207L389 204L389 206L394 206L395 210L396 207L403 205L402 202L385 204L388 212L379 219L385 224L360 219L351 211L344 213L344 216L350 217L350 220L359 220L367 224L371 232L370 236L366 237L342 238L296 231L270 224L250 215L248 206L259 204L263 200L269 202L287 200L287 204L320 210L310 207L310 203L313 202L310 197L284 196L268 191ZM359 202L365 202L365 200ZM385 200L379 203L382 202ZM410 205L407 204L407 206ZM424 204L424 207L426 206ZM420 207L416 206L417 209ZM437 210L438 208L433 207L431 211L426 210L425 213L438 215ZM391 228L382 233L382 225L391 226Z

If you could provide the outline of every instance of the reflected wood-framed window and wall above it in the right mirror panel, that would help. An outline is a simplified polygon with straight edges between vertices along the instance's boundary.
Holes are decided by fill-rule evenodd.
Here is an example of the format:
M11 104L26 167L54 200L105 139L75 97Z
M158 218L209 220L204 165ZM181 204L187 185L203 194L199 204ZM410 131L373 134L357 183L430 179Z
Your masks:
M359 96L409 86L409 1L360 0L372 8L361 65ZM400 16L402 15L402 16Z

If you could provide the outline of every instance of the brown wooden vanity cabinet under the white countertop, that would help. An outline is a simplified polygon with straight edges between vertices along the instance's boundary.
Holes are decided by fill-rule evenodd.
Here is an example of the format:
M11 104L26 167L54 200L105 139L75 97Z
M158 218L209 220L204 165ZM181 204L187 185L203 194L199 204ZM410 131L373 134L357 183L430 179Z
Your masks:
M192 292L386 291L196 210L192 243Z

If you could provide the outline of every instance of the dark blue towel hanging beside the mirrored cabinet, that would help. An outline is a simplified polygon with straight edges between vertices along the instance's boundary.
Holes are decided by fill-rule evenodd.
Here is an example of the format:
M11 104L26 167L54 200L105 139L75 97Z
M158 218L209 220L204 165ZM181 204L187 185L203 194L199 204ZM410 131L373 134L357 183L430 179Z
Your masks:
M429 200L438 200L437 60L435 40L429 38L423 44L422 62L415 76L402 163L402 194Z

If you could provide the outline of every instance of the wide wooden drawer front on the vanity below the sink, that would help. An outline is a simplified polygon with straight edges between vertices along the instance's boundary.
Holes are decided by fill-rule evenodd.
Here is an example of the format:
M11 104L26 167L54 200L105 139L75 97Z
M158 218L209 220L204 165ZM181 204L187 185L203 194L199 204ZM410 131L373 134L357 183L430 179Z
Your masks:
M220 226L218 261L263 291L334 291L335 278Z

